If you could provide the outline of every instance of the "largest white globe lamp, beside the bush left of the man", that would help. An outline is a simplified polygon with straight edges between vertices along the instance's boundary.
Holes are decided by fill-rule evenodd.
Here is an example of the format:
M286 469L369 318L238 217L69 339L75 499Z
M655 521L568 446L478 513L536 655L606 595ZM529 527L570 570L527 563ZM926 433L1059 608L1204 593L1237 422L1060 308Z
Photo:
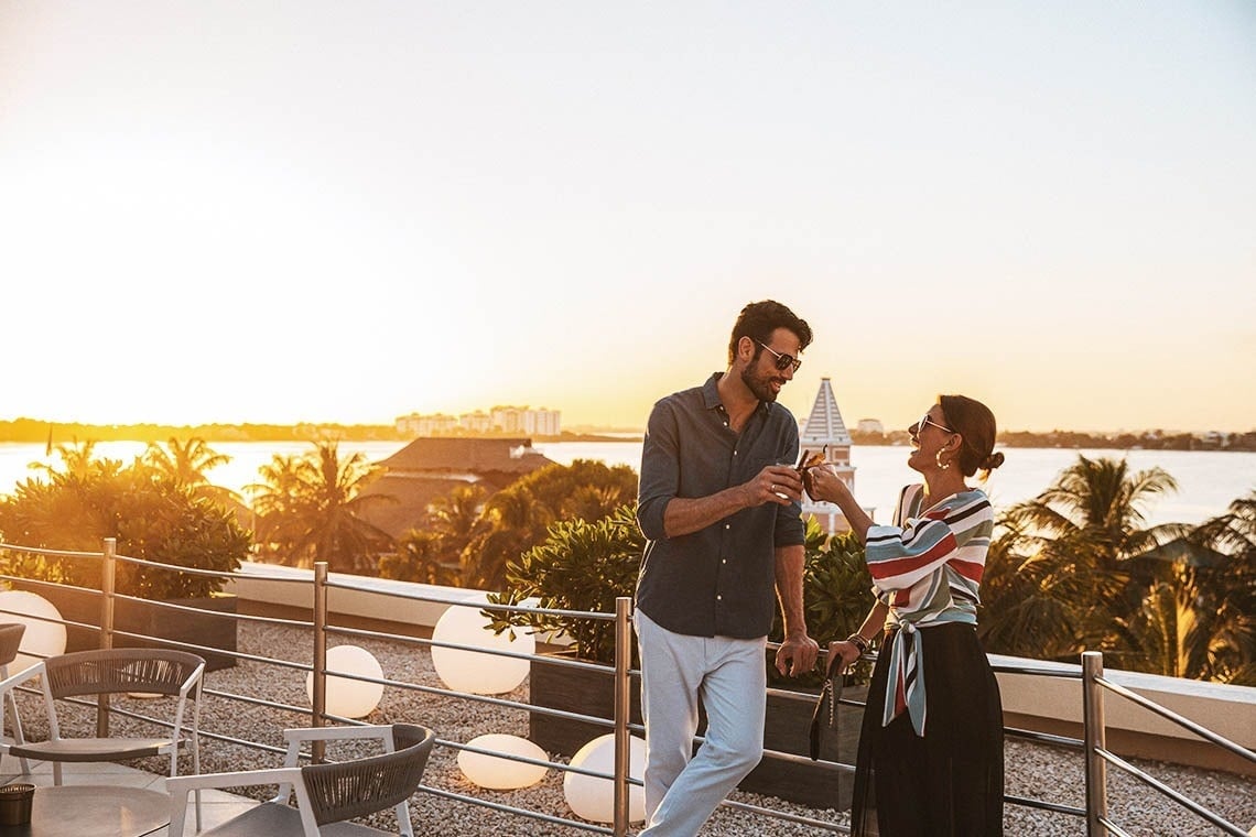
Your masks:
M437 642L456 642L492 651L535 654L536 637L522 631L505 630L494 634L491 622L480 611L484 605L455 605L446 610L432 629ZM480 651L462 651L452 648L432 646L432 665L441 681L455 691L477 695L496 695L511 691L524 681L530 668L529 660L497 656Z

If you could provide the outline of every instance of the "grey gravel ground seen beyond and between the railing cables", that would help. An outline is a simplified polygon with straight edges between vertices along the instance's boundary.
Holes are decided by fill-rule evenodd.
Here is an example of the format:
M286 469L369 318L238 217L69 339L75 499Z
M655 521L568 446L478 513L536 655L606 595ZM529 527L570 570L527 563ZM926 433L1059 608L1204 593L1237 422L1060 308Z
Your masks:
M353 644L365 648L379 660L384 676L389 679L442 686L440 678L432 669L430 654L420 646L403 646L396 642L357 637L334 644ZM296 663L309 663L313 654L308 631L254 622L240 625L239 646L245 653L284 658ZM305 694L305 674L270 665L240 663L231 669L212 671L206 675L206 688L234 694L264 695L270 700L294 706L309 705ZM526 701L526 681L514 693L500 696ZM41 729L38 722L38 708L33 703L33 695L21 695L20 699L28 737L38 739L45 735L45 729ZM151 706L144 706L143 701L138 700L119 699L117 703L136 704L137 710L153 712ZM74 713L72 712L72 714ZM436 729L441 739L455 742L468 742L476 735L486 733L528 735L528 715L524 710L487 706L475 701L399 689L387 689L379 708L367 720L371 723L418 723ZM84 727L75 725L79 723ZM94 713L88 715L85 712L82 718L63 720L63 725L72 729L88 728L92 723L94 723ZM121 732L131 723L133 722L114 722L114 729ZM201 712L201 728L206 732L275 747L283 745L281 730L285 727L303 727L308 723L308 715L212 696L203 701ZM334 757L335 753L332 755ZM456 755L457 753L452 748L436 748L423 777L425 784L476 796L500 804L540 811L555 817L568 819L573 817L563 797L561 770L549 770L540 784L522 791L482 791L462 776L456 763ZM259 753L235 744L215 740L202 743L201 769L206 773L274 767L280 762L281 757L279 755ZM1139 760L1135 763L1230 822L1243 828L1256 826L1256 782L1253 779L1156 762ZM166 770L160 759L147 759L137 763L137 767L154 773L165 773ZM190 769L190 767L188 763L186 768L181 767L181 769ZM1085 803L1081 755L1075 750L1009 740L1006 773L1006 791L1010 794L1076 807ZM1109 814L1129 834L1187 837L1223 833L1217 827L1188 814L1162 794L1144 788L1120 772L1110 769L1108 781ZM241 793L250 793L257 798L265 796L257 789L241 791ZM834 809L818 811L770 797L740 792L731 798L828 823L845 824L848 822L845 812ZM418 794L413 798L412 813L416 817L418 833L431 837L477 837L480 834L491 834L492 837L501 834L568 837L589 833L574 826L499 813L481 806L462 804L430 794ZM391 814L379 814L376 824L384 828L394 827ZM1005 824L1006 832L1016 836L1081 834L1085 831L1084 824L1076 817L1021 806L1006 807ZM744 834L819 836L833 832L801 823L766 818L752 812L721 808L702 833L741 837Z

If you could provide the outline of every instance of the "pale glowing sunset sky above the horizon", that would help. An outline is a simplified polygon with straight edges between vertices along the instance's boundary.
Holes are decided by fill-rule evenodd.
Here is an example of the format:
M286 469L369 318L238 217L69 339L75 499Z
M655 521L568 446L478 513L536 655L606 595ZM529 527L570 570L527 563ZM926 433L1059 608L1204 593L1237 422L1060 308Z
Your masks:
M0 419L1256 429L1256 4L0 0Z

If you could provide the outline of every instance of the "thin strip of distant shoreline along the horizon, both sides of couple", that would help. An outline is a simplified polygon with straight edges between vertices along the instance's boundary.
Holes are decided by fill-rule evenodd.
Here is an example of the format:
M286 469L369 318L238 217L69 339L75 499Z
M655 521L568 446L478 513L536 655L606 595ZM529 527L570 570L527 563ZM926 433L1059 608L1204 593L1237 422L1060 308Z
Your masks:
M859 445L904 445L909 437L903 430L888 434L850 433ZM526 433L467 433L461 438L519 439L530 438L535 443L554 442L641 442L644 434L632 430L595 429L580 433L564 432L559 435L528 435ZM88 439L95 442L167 442L171 438L202 439L215 442L315 442L335 439L344 442L398 442L416 437L401 433L391 424L64 424L19 418L0 422L0 443L44 443L49 445L74 444ZM1117 450L1256 450L1256 432L1230 434L1163 433L1078 433L1053 430L1029 433L1025 430L999 434L999 445L1005 448L1079 448Z

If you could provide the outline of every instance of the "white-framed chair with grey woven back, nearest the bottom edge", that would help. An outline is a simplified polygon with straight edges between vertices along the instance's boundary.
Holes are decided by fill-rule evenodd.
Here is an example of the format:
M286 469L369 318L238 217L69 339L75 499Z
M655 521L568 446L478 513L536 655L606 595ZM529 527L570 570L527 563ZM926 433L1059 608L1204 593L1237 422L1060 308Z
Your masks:
M201 837L365 837L388 832L347 822L387 808L397 813L397 833L413 837L409 797L418 788L436 733L413 724L315 727L284 730L284 767L235 773L203 773L167 779L170 837L183 837L190 791L278 784L279 793ZM303 742L378 739L377 755L298 767ZM290 804L295 796L296 806Z

